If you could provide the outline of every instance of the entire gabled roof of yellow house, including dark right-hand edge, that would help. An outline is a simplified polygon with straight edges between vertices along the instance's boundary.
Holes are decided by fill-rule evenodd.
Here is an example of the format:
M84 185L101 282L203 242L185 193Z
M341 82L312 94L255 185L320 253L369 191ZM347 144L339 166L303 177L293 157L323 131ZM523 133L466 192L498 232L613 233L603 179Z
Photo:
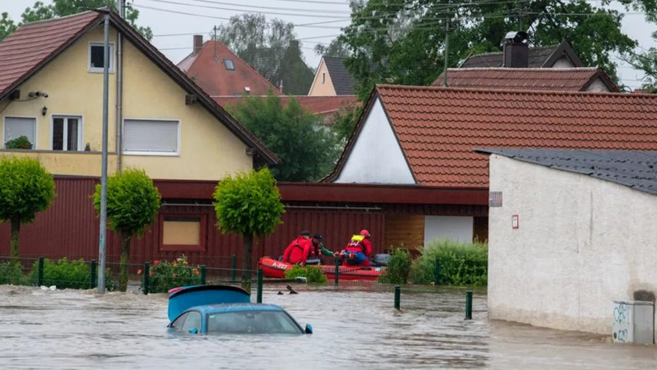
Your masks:
M135 28L127 24L116 12L108 7L99 12L87 11L71 16L54 18L20 26L18 30L0 42L0 100L24 83L49 61L55 59L91 28L102 23L104 14L110 15L110 24L124 35L139 51L144 53L156 66L161 68L181 88L198 98L205 109L225 125L244 144L256 149L256 153L267 163L280 163L281 159L265 144L237 122L225 109L217 104L191 78L177 68L171 61L148 42Z

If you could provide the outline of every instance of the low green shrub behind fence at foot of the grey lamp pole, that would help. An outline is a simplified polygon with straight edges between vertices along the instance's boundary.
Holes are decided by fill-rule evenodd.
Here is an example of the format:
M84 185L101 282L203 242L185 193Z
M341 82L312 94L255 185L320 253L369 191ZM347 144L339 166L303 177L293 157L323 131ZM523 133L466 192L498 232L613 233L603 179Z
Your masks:
M39 274L39 261L34 261L29 279L33 284L37 283ZM43 285L57 286L58 289L89 289L91 288L91 264L85 263L83 259L69 261L60 258L57 261L51 259L43 260ZM105 289L115 290L116 280L112 278L112 271L105 269Z

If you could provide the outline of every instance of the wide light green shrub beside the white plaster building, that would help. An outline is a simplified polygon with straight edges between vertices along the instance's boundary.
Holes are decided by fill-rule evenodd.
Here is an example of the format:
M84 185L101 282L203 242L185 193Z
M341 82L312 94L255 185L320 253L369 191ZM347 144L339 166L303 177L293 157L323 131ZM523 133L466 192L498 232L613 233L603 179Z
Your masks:
M414 284L434 281L436 260L440 261L440 284L485 286L488 281L487 244L438 240L420 249L421 255L411 264Z

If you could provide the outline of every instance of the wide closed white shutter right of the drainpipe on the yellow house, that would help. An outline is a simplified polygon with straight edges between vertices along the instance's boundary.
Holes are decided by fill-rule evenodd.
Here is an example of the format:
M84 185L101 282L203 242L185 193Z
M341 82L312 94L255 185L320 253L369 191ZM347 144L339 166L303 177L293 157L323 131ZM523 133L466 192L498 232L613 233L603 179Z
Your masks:
M176 153L177 120L125 120L124 151Z

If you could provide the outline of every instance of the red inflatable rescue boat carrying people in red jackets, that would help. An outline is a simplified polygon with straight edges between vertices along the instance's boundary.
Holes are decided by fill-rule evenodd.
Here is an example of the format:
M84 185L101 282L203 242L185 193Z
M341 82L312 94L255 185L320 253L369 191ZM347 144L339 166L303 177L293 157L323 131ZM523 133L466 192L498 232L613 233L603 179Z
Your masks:
M317 265L321 267L328 280L335 278L335 265ZM285 278L285 271L291 270L293 265L273 259L262 257L258 260L258 269L262 269L262 275L270 278ZM386 267L358 267L342 266L338 270L338 280L376 280L383 275Z

